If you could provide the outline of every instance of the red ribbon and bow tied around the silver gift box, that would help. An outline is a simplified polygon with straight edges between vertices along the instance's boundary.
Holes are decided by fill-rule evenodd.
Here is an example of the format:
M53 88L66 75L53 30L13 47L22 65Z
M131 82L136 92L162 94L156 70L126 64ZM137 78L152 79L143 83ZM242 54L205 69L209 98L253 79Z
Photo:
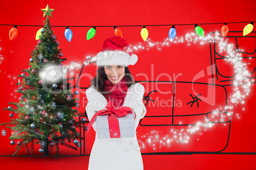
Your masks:
M89 133L90 128L92 127L92 123L96 119L98 115L106 115L108 114L108 127L110 128L110 138L120 138L120 129L119 129L119 122L117 117L123 117L127 114L132 114L132 109L130 107L113 107L113 103L110 100L106 105L107 109L99 110L89 122L87 133ZM116 117L117 116L117 117ZM136 117L136 114L135 114ZM134 117L134 119L135 119Z

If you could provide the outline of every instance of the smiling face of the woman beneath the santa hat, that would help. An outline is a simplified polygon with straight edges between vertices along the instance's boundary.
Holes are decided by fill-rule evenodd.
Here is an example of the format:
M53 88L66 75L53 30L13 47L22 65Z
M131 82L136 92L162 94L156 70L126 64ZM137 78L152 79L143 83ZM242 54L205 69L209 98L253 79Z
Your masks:
M105 65L104 71L108 80L113 84L117 84L124 78L125 67L124 65Z

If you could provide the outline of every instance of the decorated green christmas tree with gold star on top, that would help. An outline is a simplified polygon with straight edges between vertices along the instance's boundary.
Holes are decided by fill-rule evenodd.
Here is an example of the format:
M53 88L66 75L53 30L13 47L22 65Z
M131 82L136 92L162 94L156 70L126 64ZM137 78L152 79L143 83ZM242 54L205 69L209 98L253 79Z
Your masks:
M71 141L78 144L76 138L80 136L76 132L79 124L74 119L78 112L72 109L78 107L78 102L71 93L73 86L68 82L72 77L68 77L68 71L62 65L66 58L62 58L59 42L50 27L48 15L51 16L49 11L52 9L47 5L44 10L47 18L44 27L37 33L39 41L31 53L31 67L18 75L22 77L22 81L17 82L18 93L22 95L19 102L8 103L14 107L3 109L11 111L10 117L18 115L17 119L1 124L12 131L11 145L18 140L13 155L24 147L27 153L29 147L33 153L38 143L41 147L39 152L44 155L49 155L54 148L58 155L60 145L77 150Z

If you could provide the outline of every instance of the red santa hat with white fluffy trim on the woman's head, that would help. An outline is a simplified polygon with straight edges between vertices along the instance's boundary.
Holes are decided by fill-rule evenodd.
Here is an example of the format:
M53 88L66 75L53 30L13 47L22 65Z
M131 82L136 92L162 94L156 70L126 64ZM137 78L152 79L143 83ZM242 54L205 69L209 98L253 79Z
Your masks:
M128 42L120 36L114 36L106 39L103 43L103 49L97 53L97 66L100 65L134 65L138 56L124 51Z

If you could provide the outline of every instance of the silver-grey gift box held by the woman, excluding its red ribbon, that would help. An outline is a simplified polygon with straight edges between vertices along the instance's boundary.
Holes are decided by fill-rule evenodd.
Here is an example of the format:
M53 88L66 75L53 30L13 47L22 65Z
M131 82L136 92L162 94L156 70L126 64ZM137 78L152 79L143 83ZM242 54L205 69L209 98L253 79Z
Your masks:
M134 137L135 121L133 114L127 114L123 117L117 117L121 138ZM108 115L98 115L96 117L96 128L98 138L110 138L110 129L108 127Z

